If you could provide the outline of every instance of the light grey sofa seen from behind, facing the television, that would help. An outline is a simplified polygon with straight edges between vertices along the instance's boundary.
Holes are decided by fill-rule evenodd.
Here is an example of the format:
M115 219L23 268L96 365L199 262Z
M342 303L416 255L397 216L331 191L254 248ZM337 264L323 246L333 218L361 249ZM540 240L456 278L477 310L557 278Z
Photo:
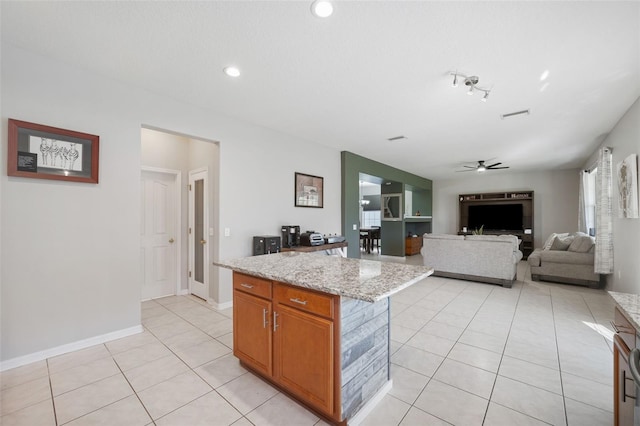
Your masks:
M511 287L522 259L515 235L424 234L420 253L433 275Z

